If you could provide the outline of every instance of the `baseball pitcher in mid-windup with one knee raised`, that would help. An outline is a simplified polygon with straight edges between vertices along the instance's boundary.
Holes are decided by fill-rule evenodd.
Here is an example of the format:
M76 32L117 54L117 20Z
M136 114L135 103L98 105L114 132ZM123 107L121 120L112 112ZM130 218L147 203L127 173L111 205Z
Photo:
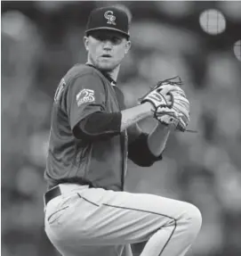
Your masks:
M162 160L170 132L186 131L189 100L181 79L158 82L126 109L116 79L131 47L126 13L93 10L84 35L87 62L61 78L54 95L44 178L44 228L64 256L183 256L201 227L196 206L124 191L127 159L141 167ZM138 121L157 120L149 134Z

